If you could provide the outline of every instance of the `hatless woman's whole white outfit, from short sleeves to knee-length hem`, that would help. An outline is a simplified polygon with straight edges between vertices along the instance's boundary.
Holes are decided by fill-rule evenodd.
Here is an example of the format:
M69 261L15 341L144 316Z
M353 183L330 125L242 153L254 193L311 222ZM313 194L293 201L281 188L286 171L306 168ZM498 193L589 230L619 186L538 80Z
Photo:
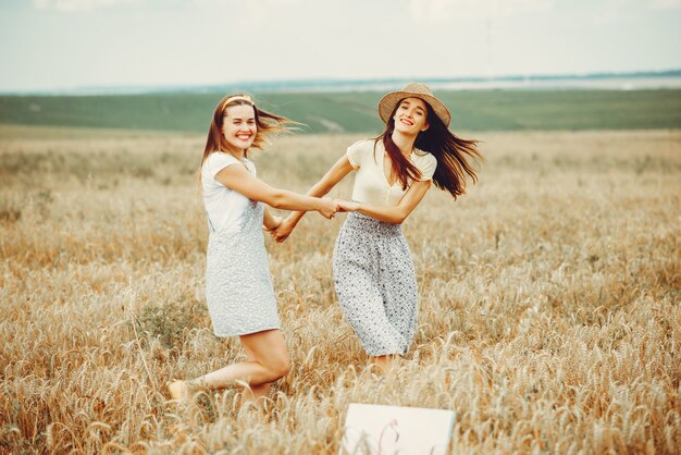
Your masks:
M203 197L210 230L206 299L218 336L280 328L262 234L264 205L215 181L215 174L227 165L245 165L256 174L252 162L239 161L227 153L212 153L203 163ZM220 194L221 190L226 193ZM211 197L212 201L206 200ZM214 200L221 200L222 205L211 204ZM222 224L215 225L214 220L222 220Z

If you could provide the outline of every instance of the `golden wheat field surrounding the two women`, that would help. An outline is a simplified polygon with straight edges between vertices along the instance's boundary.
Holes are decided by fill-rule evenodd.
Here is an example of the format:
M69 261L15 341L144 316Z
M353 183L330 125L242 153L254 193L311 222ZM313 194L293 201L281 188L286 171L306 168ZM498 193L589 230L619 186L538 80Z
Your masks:
M451 453L679 453L681 131L461 133L480 182L404 224L419 330L387 377L335 302L343 221L267 239L293 361L261 405L166 402L213 336L201 135L0 128L0 453L336 453L349 403L454 409ZM282 136L305 192L359 136ZM332 196L349 197L351 179Z

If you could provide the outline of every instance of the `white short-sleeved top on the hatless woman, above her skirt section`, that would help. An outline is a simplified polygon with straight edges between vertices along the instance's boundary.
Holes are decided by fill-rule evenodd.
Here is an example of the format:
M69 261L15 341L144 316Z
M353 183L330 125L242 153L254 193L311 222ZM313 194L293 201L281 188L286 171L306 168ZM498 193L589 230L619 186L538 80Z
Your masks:
M244 158L239 161L222 151L211 153L201 168L201 187L208 222L212 230L220 233L235 230L242 224L244 211L249 202L246 196L215 180L220 171L233 164L245 165L248 172L256 176L256 167L250 160Z

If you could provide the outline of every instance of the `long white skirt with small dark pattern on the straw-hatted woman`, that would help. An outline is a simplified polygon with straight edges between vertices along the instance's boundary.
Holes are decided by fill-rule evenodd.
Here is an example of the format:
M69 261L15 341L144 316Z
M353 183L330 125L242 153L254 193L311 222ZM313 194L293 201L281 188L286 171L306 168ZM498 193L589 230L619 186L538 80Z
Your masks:
M336 296L370 356L405 355L417 329L418 286L399 224L348 213L333 256Z

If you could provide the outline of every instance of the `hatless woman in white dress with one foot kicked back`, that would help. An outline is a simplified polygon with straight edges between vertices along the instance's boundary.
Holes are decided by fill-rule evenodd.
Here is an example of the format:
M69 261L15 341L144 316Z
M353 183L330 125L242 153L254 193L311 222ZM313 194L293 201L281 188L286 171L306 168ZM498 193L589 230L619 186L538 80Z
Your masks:
M333 218L337 202L273 188L256 176L248 152L262 149L267 136L287 122L258 109L246 95L226 96L215 108L199 171L210 231L206 299L215 335L239 336L248 361L170 383L175 399L188 397L195 386L222 389L238 382L248 383L245 396L255 398L288 372L262 236L263 225L274 229L281 219L267 206Z

